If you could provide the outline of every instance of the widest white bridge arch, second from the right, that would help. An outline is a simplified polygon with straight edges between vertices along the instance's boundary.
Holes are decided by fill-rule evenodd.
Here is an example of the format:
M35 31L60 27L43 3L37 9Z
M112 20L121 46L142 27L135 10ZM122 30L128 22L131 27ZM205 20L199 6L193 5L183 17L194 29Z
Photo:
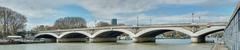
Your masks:
M145 30L142 30L142 31L138 32L135 35L135 37L139 37L139 36L142 36L145 33L148 33L148 32L151 32L151 31L157 31L157 30L172 30L172 31L179 31L179 32L187 34L189 36L193 35L193 32L191 32L189 30L186 30L186 29L183 29L183 28L149 28L149 29L145 29Z

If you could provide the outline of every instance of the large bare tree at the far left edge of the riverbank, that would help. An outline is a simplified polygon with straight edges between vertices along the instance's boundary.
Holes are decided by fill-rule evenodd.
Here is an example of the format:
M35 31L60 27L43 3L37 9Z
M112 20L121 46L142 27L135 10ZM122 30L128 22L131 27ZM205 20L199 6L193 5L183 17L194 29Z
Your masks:
M12 11L11 9L0 7L0 28L2 36L16 35L23 31L27 19L24 15Z

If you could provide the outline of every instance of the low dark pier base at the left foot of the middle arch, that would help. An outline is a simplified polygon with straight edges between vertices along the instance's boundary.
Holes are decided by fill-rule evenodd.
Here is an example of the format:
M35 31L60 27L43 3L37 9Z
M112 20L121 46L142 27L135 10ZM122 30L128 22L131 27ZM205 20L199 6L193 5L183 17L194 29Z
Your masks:
M88 42L90 43L100 43L100 42L116 42L117 38L90 38Z

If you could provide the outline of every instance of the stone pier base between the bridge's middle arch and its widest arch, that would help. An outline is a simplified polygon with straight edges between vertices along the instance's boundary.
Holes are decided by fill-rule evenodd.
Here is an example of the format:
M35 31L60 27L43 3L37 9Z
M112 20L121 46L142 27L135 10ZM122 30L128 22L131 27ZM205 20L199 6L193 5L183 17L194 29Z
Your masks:
M135 43L154 42L154 41L155 41L155 38L152 38L152 37L143 37L143 38L136 37L136 38L133 38L133 41L134 41Z

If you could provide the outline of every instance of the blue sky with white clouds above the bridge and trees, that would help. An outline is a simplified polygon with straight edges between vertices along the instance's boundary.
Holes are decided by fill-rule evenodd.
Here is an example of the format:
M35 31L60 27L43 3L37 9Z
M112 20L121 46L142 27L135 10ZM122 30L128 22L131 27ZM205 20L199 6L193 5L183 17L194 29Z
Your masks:
M53 25L58 18L82 17L89 27L95 23L163 24L227 22L238 0L0 0L7 7L25 15L27 29ZM194 17L192 17L194 13ZM200 19L200 20L199 20Z

